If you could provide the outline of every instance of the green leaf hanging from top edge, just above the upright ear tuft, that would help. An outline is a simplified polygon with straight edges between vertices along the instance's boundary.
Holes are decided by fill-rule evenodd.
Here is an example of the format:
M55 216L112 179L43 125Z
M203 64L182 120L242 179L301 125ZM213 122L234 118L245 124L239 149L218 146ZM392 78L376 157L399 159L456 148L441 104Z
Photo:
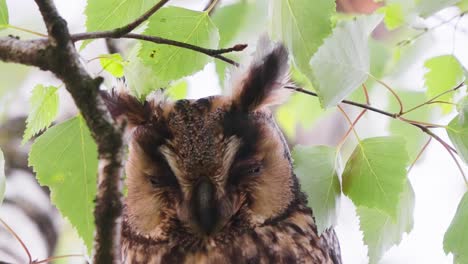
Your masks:
M295 66L309 79L313 75L309 60L332 29L334 0L274 0L272 36L285 43Z

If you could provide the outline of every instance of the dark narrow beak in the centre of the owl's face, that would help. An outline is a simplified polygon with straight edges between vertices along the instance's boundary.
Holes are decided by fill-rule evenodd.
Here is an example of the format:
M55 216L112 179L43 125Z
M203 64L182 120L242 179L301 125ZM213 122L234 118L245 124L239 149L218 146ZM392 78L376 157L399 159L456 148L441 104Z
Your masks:
M219 218L215 191L213 183L207 177L203 177L195 185L192 197L195 221L206 235L215 230Z

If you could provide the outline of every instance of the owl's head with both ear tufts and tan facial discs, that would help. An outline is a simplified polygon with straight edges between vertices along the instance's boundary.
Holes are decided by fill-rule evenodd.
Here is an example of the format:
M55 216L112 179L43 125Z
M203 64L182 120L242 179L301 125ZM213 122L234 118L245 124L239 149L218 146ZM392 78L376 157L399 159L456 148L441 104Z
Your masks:
M289 150L268 108L286 96L288 53L258 46L229 96L103 96L128 123L126 221L138 233L216 236L281 217L297 199Z

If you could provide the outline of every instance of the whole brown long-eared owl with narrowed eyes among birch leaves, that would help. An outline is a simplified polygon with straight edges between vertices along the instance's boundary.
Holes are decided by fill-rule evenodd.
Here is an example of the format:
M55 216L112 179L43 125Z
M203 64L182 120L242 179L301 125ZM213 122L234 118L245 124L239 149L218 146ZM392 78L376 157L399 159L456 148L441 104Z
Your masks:
M287 50L258 46L229 96L103 94L130 135L125 263L341 263L333 229L317 234L269 109L287 97Z

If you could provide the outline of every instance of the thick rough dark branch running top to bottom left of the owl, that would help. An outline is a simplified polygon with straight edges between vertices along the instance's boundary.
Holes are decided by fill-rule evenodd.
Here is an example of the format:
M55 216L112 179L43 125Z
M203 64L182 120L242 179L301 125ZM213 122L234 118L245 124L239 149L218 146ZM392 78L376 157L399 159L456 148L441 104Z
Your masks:
M94 263L120 263L122 212L120 176L123 156L121 131L116 128L98 94L102 78L93 79L81 65L66 21L60 17L51 0L35 1L46 24L49 38L46 47L42 46L44 49L32 49L38 52L36 56L27 54L32 57L31 65L37 63L36 66L50 70L64 82L98 146L101 170L94 211L96 222ZM24 43L27 42L22 44ZM45 51L47 57L44 57L41 51ZM37 56L40 59L34 59ZM14 60L15 58L10 58L10 61Z

